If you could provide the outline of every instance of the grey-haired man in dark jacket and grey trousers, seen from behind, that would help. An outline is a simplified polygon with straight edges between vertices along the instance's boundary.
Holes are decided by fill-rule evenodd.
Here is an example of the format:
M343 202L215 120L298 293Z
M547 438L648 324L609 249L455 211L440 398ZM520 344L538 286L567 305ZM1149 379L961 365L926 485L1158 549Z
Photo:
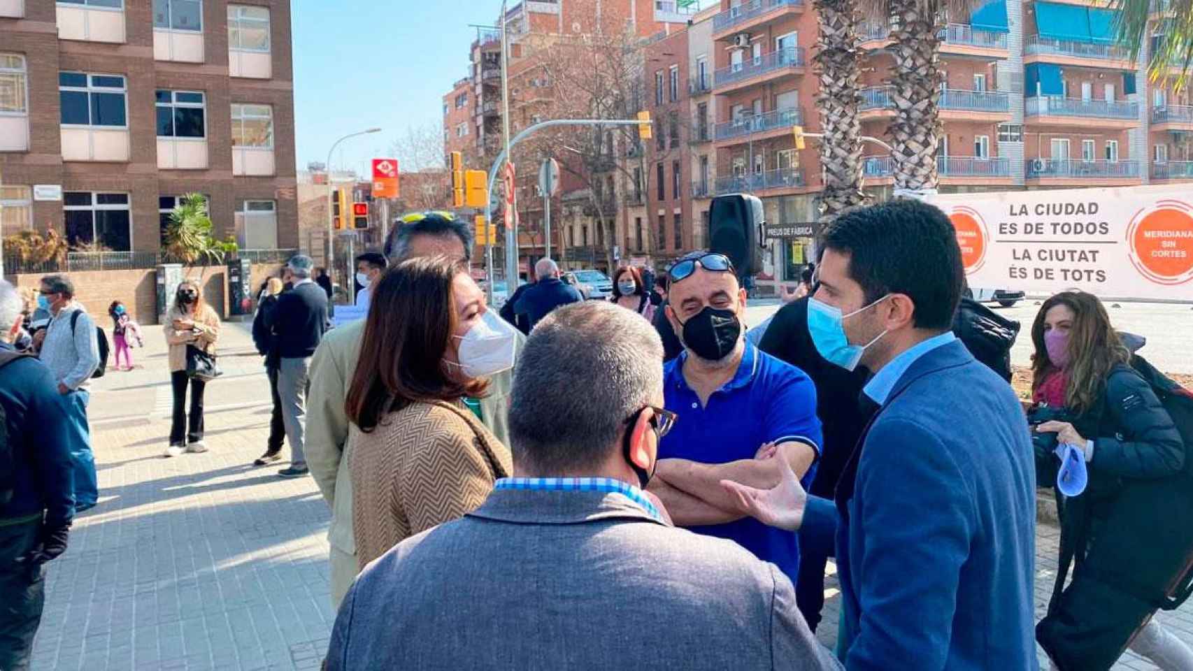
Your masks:
M290 467L278 471L283 478L301 478L310 472L303 454L307 374L310 358L327 333L327 293L310 278L314 265L310 256L303 254L290 259L285 279L293 288L278 297L266 322L276 338L278 396L291 452Z

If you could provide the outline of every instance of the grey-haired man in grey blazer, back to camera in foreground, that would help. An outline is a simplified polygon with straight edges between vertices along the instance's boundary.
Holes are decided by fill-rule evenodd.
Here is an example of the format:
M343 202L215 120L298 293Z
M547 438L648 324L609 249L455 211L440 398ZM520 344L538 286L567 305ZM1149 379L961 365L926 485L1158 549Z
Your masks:
M610 303L540 322L514 373L515 477L364 570L328 669L840 669L783 572L673 527L644 491L675 421L661 361L651 325Z

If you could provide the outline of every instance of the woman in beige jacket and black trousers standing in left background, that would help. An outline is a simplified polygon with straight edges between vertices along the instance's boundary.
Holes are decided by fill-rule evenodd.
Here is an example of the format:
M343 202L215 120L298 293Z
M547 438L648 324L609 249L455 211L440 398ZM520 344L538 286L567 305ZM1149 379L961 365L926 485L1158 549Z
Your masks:
M169 344L169 384L174 391L174 416L169 427L166 456L186 452L206 452L203 443L203 392L206 383L186 374L186 348L197 347L216 353L220 338L220 315L203 300L199 285L183 280L174 293L174 304L166 315L166 342ZM191 387L191 412L186 414L186 387ZM187 420L190 422L187 423Z

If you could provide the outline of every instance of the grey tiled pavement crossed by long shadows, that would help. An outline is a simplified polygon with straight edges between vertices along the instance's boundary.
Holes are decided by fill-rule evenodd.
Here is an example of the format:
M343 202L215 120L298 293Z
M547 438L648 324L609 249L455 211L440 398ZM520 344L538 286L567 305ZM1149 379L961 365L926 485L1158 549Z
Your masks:
M208 405L236 394L260 400L260 380L249 367L243 375L214 383ZM249 465L264 449L267 408L210 412L210 452L163 459L168 422L150 412L152 400L143 405L130 400L113 409L126 415L95 429L100 504L78 518L69 549L49 565L33 669L317 669L334 621L329 514L309 478L283 480L277 467ZM1056 546L1057 530L1040 526L1037 616ZM818 632L826 645L836 638L835 588L830 578ZM1158 617L1193 642L1193 604ZM1115 669L1155 666L1127 653Z

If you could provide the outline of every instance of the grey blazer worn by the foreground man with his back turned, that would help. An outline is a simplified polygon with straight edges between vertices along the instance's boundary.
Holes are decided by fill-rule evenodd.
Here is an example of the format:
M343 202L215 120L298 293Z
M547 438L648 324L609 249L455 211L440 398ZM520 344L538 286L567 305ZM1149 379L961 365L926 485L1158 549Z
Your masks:
M840 669L774 565L629 498L494 491L412 536L345 597L327 667Z

